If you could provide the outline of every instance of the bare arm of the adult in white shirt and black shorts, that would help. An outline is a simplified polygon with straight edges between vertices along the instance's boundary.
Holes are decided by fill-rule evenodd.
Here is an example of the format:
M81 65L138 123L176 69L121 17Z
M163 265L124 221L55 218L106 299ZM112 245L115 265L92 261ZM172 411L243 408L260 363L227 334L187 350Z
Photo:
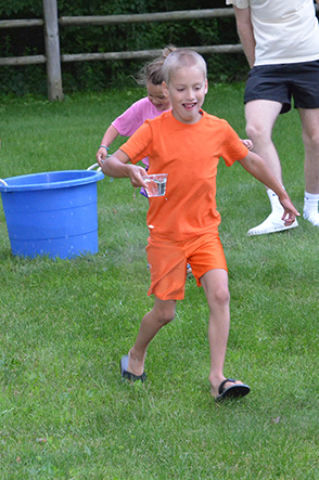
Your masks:
M248 7L246 9L239 9L238 7L233 5L233 10L235 15L238 35L241 44L243 46L250 67L253 68L255 63L256 41L251 20L251 8Z

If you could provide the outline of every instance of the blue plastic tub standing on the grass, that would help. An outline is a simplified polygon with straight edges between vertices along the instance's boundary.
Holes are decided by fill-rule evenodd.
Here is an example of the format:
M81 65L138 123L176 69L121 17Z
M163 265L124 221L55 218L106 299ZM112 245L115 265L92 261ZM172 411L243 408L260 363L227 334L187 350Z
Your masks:
M68 170L3 179L0 192L13 255L97 254L98 189L104 174Z

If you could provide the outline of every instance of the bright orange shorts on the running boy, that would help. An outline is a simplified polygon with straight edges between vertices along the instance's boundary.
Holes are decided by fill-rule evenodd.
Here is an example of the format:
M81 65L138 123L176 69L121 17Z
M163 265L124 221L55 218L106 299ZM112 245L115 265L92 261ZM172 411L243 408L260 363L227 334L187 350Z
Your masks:
M187 263L190 263L199 287L201 276L209 270L228 271L218 232L182 242L150 236L146 252L151 272L148 295L154 294L161 300L184 298Z

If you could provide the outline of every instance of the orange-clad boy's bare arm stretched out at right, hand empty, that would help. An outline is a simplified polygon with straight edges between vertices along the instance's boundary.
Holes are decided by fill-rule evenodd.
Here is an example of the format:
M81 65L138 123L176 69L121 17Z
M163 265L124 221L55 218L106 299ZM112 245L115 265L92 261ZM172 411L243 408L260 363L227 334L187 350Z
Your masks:
M250 152L248 155L242 160L239 160L239 163L248 173L268 186L268 189L273 190L284 208L282 220L284 220L285 225L291 225L295 221L296 216L299 216L299 212L293 206L286 191L271 173L266 161L264 161L259 155Z

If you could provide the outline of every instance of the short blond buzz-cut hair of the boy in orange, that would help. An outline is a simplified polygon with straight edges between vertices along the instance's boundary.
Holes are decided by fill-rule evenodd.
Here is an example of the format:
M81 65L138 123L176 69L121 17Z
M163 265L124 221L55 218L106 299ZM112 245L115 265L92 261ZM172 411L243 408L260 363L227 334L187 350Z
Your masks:
M207 78L207 65L205 60L200 53L191 49L176 49L164 62L163 76L164 81L168 85L171 75L178 68L182 67L197 67L203 72L205 78Z

